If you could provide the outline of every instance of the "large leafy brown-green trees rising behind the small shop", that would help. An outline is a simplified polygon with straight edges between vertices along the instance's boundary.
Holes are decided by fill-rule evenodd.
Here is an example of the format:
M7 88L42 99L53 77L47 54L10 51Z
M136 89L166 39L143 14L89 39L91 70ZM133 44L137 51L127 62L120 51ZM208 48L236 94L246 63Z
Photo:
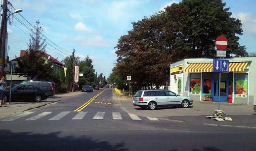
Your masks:
M226 54L247 56L239 45L242 23L231 17L222 0L182 0L165 11L133 22L133 29L120 37L116 66L109 80L124 87L131 75L133 91L158 89L170 79L170 63L186 58L215 58L215 38L228 38Z

